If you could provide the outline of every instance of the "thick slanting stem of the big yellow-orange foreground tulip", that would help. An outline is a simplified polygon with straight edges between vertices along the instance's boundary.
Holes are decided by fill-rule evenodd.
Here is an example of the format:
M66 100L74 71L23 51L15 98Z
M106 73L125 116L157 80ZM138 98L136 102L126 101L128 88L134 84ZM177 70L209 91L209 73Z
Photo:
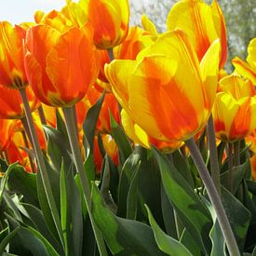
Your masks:
M210 178L208 168L204 163L202 155L200 154L194 139L190 139L185 142L187 147L190 150L190 154L195 162L195 166L198 170L198 173L205 184L207 193L209 195L209 200L216 211L217 219L220 223L223 237L225 238L225 242L227 245L227 249L230 255L238 256L240 255L239 249L236 244L236 238L231 229L231 225L228 222L226 213L222 206L222 200L220 195L218 194L212 179Z

